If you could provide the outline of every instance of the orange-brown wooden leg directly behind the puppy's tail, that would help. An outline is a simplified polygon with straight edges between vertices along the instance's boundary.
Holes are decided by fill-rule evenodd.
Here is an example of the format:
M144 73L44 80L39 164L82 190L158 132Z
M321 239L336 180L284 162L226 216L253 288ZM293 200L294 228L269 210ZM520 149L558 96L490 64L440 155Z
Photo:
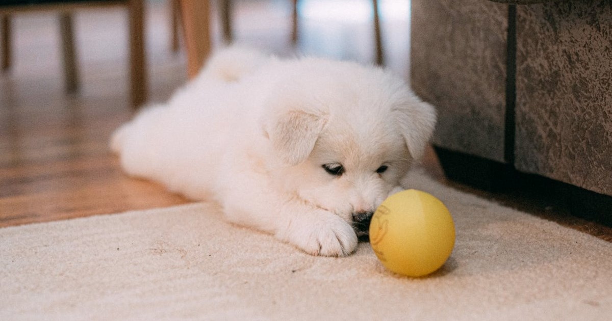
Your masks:
M193 78L211 53L209 1L181 0L181 17L187 47L187 75Z

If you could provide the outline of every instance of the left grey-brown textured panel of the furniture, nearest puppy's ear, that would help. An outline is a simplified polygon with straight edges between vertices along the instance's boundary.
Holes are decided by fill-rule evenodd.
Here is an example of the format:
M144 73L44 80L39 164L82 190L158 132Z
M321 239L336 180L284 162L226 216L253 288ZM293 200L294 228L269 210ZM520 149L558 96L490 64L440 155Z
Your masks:
M438 109L434 143L504 161L507 5L412 0L412 88Z

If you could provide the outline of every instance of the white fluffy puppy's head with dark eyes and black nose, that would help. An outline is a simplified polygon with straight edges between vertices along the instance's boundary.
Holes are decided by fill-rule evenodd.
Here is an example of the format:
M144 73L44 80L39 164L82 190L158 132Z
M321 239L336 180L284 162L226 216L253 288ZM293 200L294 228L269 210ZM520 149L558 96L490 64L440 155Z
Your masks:
M378 68L319 59L282 67L287 79L264 120L278 188L367 232L422 156L434 109Z

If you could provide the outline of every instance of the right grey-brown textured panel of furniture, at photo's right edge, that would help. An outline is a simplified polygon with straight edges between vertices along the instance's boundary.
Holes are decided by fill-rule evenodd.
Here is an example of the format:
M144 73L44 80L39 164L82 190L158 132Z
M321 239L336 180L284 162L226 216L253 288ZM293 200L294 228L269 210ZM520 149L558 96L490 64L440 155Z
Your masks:
M612 4L517 7L516 166L612 195Z

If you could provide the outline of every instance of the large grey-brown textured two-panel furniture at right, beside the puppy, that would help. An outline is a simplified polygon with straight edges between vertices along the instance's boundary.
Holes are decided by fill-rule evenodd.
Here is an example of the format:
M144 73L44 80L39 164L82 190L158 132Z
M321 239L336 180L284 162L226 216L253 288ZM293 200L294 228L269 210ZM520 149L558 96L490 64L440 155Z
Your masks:
M449 177L535 174L575 208L612 204L612 2L412 0L411 28L411 84L438 109Z

